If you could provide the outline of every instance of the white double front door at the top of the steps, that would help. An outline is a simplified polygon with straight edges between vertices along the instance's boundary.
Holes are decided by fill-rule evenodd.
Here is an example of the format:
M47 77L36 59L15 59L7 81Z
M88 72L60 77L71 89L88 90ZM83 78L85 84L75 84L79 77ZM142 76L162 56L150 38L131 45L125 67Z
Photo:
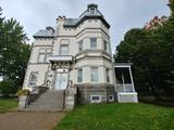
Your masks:
M69 75L66 73L58 73L55 77L55 90L64 90L67 87Z

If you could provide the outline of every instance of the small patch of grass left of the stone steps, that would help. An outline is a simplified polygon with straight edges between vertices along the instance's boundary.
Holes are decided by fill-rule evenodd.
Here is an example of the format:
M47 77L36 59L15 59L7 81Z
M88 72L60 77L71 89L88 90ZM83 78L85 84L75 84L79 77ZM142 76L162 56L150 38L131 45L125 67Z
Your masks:
M16 99L0 99L0 113L5 113L10 108L17 106Z

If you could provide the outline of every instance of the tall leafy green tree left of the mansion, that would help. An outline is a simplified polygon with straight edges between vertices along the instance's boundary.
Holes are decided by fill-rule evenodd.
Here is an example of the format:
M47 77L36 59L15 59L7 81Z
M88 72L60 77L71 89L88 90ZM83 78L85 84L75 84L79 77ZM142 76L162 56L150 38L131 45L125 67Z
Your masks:
M0 15L1 16L1 15ZM0 17L0 76L22 87L30 46L24 28L14 20Z

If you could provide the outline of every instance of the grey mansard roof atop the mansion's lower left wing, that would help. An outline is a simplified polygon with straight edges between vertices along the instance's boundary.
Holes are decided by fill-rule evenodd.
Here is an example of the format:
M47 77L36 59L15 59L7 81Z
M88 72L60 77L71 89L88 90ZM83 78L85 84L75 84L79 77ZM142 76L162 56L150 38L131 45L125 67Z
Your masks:
M34 38L54 38L55 31L52 27L46 27L46 29L40 29L34 35Z

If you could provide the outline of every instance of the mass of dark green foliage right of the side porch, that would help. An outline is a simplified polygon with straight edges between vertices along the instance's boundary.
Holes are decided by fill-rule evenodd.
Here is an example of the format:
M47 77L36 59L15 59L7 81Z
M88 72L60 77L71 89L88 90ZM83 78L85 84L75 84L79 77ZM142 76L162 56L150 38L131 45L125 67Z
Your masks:
M174 93L174 17L151 30L134 28L116 48L115 62L133 63L140 94Z

